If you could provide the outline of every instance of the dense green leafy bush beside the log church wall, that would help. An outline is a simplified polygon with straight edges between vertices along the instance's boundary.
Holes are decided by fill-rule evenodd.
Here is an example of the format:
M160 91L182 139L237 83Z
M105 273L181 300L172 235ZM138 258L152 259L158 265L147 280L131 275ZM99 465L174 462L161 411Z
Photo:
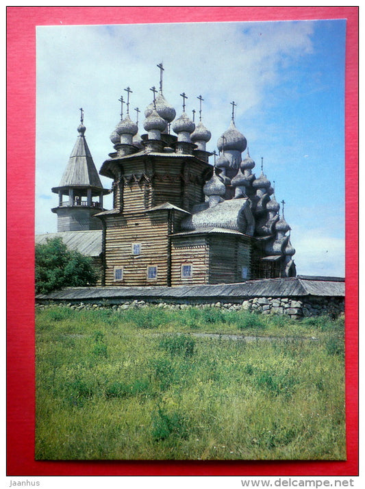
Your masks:
M70 250L62 238L36 244L36 293L48 294L63 287L93 286L97 271L92 258Z

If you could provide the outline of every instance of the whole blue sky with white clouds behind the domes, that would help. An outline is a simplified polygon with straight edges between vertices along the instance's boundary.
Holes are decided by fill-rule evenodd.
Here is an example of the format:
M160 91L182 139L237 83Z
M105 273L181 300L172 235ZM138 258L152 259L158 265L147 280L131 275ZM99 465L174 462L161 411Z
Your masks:
M57 230L51 187L77 138L79 108L99 169L113 151L118 98L130 86L132 118L137 106L143 112L163 62L177 116L181 92L188 114L203 95L209 151L229 125L230 102L238 104L253 171L260 174L263 157L277 200L286 201L298 273L344 276L345 30L342 20L38 27L36 233Z

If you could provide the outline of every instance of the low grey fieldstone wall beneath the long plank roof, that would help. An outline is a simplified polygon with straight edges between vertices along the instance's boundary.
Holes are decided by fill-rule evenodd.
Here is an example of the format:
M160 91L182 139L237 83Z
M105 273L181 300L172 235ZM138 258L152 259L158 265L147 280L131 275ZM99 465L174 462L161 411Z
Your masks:
M232 298L233 299L233 298ZM125 310L129 308L146 308L150 304L158 305L160 308L173 308L181 310L194 305L199 308L223 308L227 310L247 310L252 313L261 314L285 314L292 319L299 319L308 316L320 316L327 314L331 317L336 317L344 313L344 298L343 297L253 297L251 299L236 302L205 302L195 301L192 303L176 303L172 301L120 301L119 303L110 303L103 300L102 302L78 302L71 303L66 301L58 302L60 305L67 305L75 310L100 310L112 308L113 310ZM39 308L47 308L50 303L38 304ZM54 303L53 303L54 305Z

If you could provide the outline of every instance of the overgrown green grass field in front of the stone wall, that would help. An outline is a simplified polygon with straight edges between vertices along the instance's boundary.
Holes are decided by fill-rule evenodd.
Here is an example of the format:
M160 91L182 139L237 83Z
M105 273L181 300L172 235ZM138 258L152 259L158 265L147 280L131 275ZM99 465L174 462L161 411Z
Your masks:
M343 340L342 318L38 310L36 459L344 460Z

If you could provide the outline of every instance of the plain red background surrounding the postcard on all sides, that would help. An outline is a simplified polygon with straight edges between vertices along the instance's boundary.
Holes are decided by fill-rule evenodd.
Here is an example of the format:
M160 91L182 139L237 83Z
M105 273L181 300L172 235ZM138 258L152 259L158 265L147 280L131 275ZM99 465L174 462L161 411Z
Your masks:
M36 25L277 21L319 18L347 18L347 461L36 462L34 460ZM8 7L7 47L7 475L357 475L358 8Z

